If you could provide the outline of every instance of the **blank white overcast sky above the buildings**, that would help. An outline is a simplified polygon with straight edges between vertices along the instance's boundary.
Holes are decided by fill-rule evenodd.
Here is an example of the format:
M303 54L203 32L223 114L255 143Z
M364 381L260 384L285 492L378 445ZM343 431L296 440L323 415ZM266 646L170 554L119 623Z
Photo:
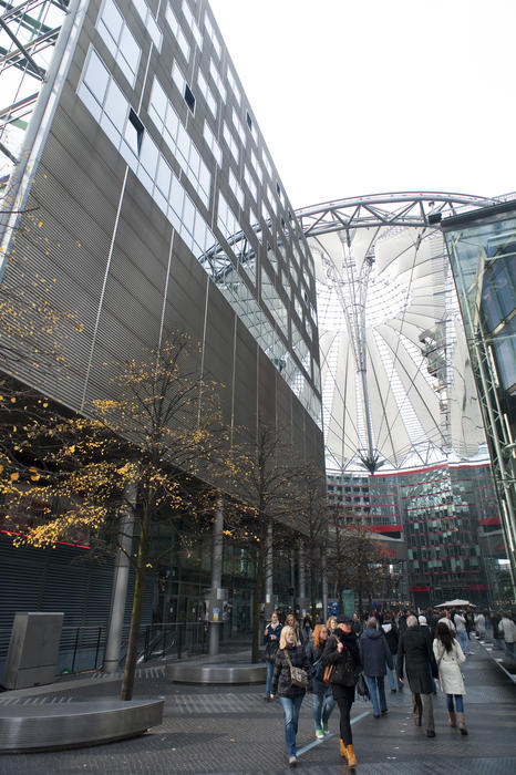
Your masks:
M516 0L210 0L293 207L516 189Z

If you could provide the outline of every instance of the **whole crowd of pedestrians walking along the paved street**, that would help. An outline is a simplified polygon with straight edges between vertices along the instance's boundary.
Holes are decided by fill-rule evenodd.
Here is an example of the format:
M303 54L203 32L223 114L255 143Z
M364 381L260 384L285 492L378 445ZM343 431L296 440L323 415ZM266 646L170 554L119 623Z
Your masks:
M389 712L386 675L391 693L403 691L406 680L414 723L424 723L427 737L435 737L433 695L437 685L446 698L450 726L467 735L461 665L469 654L472 633L485 638L488 623L495 644L502 648L503 639L507 653L514 655L516 624L509 611L374 611L364 621L354 613L352 618L331 616L314 626L308 616L298 622L292 613L274 612L264 632L265 700L277 696L281 703L289 765L297 764L298 720L307 690L312 693L316 738L330 734L328 722L337 705L340 754L349 766L357 764L350 714L362 676L374 719Z

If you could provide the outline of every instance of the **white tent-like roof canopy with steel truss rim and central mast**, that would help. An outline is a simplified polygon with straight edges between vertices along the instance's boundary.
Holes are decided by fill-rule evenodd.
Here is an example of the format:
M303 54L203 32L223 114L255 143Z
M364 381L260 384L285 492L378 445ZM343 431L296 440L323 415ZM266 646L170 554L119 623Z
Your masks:
M474 445L461 426L482 443L438 223L497 202L403 192L297 210L317 264L329 468L374 472L463 456Z

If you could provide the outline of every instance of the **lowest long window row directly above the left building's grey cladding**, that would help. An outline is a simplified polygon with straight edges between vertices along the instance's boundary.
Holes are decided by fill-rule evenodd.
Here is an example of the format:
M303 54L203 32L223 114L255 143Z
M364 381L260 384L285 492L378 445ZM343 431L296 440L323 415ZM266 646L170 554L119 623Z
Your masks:
M218 264L214 261L214 255L217 254L217 251L214 250L214 246L217 245L214 234L208 228L203 215L195 207L177 177L173 174L167 159L154 143L149 133L145 130L142 121L131 107L113 75L93 48L91 48L87 53L82 78L78 86L78 94L102 126L111 142L120 151L131 169L133 169L147 189L148 194L168 218L173 227L182 236L186 245L200 261L205 270L208 271L226 298L228 298L244 324L249 329L260 347L262 347L274 365L320 426L320 402L309 381L305 378L301 369L299 369L289 353L288 345L285 344L281 337L275 331L258 302L252 298L252 293L247 288L246 283L238 278L238 272L230 259L227 256L225 257L226 266L224 267L224 271L220 271L221 250L218 249ZM168 132L172 123L172 120L169 123L169 118L176 114L175 112L169 114L168 111L172 108L172 105L168 101L165 106L165 113L163 113L163 110L157 110L156 106L161 105L162 108L164 106L164 92L157 80L155 80L153 84L153 94L155 95L155 101L153 101L153 99L151 101L152 104L155 105L153 107L153 121L162 122L163 124L163 117L165 116L167 123L166 132ZM179 122L176 134L174 134L174 132L169 134L171 142L174 141L177 146L183 142L179 140L183 137L183 135L180 135L180 126ZM164 125L161 131L165 135ZM180 153L184 154L184 163L188 163L189 165L193 144L188 135L186 135L186 138L189 145L186 146L185 140L184 144L180 145ZM200 167L198 168L198 173L200 174L199 170ZM235 238L235 235L241 231L241 229L237 228L238 221L229 224L226 220L226 224L224 224L220 219L220 214L224 215L225 213L224 198L219 198L219 228L223 231L223 227L227 230L230 229L228 236ZM228 213L230 213L230 208L226 203L226 219L229 217ZM252 256L256 267L256 252L249 251L249 255ZM229 277L231 278L230 281ZM238 282L235 281L236 278L238 278ZM281 330L288 340L287 311L285 327L282 327Z

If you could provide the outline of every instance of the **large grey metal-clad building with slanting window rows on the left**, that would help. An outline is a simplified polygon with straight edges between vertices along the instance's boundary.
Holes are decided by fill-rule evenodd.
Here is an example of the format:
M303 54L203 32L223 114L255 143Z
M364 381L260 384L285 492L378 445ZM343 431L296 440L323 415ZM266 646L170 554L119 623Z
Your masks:
M121 363L186 331L200 343L193 368L224 385L226 422L250 437L281 430L322 471L313 259L208 2L35 0L1 18L0 293L41 281L78 323L59 342L65 369L39 369L14 337L3 373L87 415ZM34 332L40 352L54 335ZM190 538L158 568L147 621L198 616L210 548ZM30 564L22 580L21 554L1 544L25 604L61 610L58 590L81 566L48 565L52 601L37 600ZM291 585L280 566L279 601ZM235 628L249 627L252 577L245 548L227 542ZM109 586L104 596L101 617ZM91 622L81 596L62 604Z

